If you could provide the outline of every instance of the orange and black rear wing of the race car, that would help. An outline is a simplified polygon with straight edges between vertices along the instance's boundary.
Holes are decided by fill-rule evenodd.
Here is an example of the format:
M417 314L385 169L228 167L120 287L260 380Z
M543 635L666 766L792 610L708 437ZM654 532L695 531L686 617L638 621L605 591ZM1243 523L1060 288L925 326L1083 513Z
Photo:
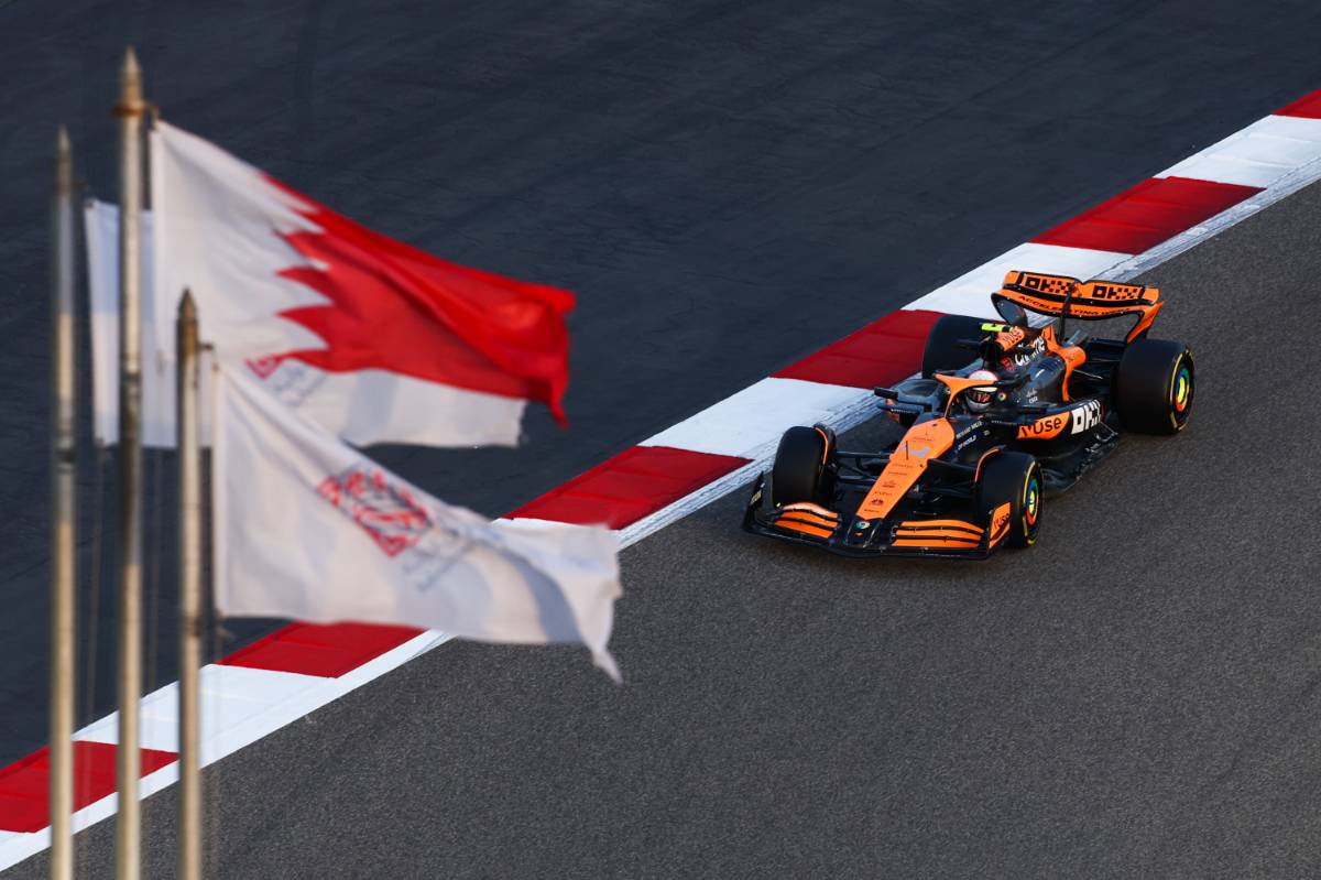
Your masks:
M1011 271L991 301L1009 300L1029 312L1050 317L1102 321L1133 314L1137 322L1125 342L1147 334L1164 303L1160 288L1120 281L1079 281L1067 275Z

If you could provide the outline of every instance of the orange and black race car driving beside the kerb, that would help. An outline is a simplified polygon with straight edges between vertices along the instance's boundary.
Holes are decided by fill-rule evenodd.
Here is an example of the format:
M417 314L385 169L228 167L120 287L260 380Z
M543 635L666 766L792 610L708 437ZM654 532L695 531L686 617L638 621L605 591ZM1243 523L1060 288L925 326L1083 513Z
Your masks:
M1193 353L1148 337L1159 289L1015 271L991 300L1003 322L943 316L922 375L876 388L908 429L888 449L845 452L824 425L786 431L744 527L847 556L984 559L1034 543L1045 492L1077 482L1120 432L1188 424ZM1065 336L1071 318L1127 316L1123 340Z

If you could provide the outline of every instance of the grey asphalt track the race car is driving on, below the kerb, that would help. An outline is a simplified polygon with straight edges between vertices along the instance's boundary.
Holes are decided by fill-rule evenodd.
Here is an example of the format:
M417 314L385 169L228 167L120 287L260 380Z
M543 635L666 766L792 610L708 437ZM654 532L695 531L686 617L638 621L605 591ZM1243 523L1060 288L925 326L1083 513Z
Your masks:
M209 876L1318 876L1318 226L1312 186L1141 279L1192 423L1125 436L1036 547L843 560L727 497L625 551L624 687L444 646L210 768Z

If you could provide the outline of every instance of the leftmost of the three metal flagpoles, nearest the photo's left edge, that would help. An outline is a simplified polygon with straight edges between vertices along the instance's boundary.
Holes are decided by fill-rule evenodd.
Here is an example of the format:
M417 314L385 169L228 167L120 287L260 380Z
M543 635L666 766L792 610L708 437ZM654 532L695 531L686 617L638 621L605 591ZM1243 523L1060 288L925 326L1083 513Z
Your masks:
M74 173L55 136L50 316L50 877L74 876Z

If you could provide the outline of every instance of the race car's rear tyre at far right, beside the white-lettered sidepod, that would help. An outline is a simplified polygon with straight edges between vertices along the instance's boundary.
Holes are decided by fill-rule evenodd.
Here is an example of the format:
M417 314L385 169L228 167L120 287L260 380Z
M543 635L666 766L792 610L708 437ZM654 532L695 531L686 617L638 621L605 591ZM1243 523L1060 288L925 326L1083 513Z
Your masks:
M1193 412L1193 353L1181 342L1137 340L1115 371L1115 408L1137 433L1178 433Z

